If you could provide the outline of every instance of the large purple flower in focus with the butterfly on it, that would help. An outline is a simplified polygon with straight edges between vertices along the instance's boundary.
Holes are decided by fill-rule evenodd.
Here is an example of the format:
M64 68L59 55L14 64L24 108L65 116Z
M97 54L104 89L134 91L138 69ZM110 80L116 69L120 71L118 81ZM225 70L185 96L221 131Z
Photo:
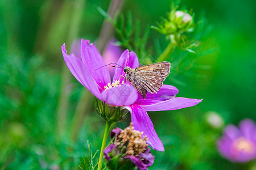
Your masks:
M115 69L111 83L109 71L104 67L106 64L101 54L93 44L89 44L89 40L81 40L81 56L68 55L65 44L61 46L61 50L65 63L73 76L101 101L128 109L134 128L143 131L143 135L147 135L147 143L155 150L164 151L164 147L147 111L182 109L192 107L203 100L175 97L179 91L170 85L163 85L157 94L148 93L146 99L143 99L138 91L123 79L125 76L123 69ZM137 55L129 52L128 49L121 54L117 63L122 67L139 66Z

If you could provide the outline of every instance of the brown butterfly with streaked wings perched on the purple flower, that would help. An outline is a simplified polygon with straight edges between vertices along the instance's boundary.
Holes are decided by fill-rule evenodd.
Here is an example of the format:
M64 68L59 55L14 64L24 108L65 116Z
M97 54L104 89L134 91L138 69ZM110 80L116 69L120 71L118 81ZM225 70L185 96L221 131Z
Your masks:
M163 81L170 73L170 68L171 63L163 61L135 69L127 66L123 72L125 72L126 79L137 88L139 94L145 99L147 91L152 94L160 90Z

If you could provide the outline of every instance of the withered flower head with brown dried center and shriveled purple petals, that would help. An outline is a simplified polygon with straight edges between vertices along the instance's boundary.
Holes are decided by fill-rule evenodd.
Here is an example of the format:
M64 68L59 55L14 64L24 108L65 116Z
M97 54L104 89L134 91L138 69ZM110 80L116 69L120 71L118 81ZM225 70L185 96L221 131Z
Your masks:
M113 129L110 133L112 141L104 150L105 160L107 162L111 160L112 164L117 164L117 167L126 166L134 169L136 166L137 169L148 169L154 163L155 156L151 154L146 144L147 137L144 136L142 139L142 134L134 130L132 123L124 130ZM106 166L108 167L108 164Z

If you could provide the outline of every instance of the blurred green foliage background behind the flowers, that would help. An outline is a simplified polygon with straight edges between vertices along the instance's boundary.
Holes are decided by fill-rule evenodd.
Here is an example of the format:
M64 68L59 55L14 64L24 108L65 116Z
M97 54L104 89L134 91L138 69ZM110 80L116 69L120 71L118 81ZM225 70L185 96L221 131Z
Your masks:
M93 96L67 71L60 46L96 40L104 22L97 6L107 10L109 3L0 1L0 169L79 169L87 141L93 152L100 149L105 122L94 111ZM222 158L216 140L225 125L256 120L255 5L251 0L180 2L197 21L205 18L207 33L193 54L204 67L177 75L183 83L165 83L180 90L177 96L204 100L192 108L148 113L166 149L152 151L151 169L246 169ZM128 11L141 20L143 32L166 17L170 1L126 1L122 13ZM148 45L154 47L156 40L164 49L164 36L151 30ZM208 123L213 112L224 121L221 128Z

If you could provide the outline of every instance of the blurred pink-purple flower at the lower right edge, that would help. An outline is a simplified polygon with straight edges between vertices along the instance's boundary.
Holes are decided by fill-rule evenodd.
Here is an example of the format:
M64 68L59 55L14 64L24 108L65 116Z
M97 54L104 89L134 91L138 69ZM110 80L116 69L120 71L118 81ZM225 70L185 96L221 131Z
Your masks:
M226 126L217 142L220 154L231 162L248 162L256 159L256 125L250 119L240 122L239 129Z

